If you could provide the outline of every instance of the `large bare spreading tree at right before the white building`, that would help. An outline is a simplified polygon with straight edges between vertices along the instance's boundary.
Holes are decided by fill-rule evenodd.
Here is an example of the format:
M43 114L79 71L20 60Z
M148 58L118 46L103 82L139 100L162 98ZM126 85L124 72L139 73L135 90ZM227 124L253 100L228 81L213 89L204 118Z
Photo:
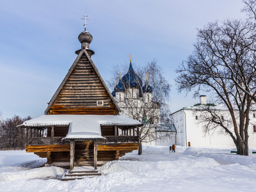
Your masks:
M204 108L207 128L222 127L236 144L237 154L246 156L249 112L256 94L255 34L255 25L250 21L207 24L198 30L195 51L182 63L175 79L179 91L195 90L195 96L200 91L209 92L215 101L225 105L233 130L211 107Z

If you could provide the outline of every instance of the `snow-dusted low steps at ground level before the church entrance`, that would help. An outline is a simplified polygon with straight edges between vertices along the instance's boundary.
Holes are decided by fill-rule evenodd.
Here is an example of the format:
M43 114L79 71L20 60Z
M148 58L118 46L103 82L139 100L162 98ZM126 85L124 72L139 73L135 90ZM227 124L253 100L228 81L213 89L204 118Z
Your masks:
M85 177L100 176L101 173L98 170L94 170L92 166L80 166L74 167L74 170L66 172L61 180L75 180L75 179L84 179Z

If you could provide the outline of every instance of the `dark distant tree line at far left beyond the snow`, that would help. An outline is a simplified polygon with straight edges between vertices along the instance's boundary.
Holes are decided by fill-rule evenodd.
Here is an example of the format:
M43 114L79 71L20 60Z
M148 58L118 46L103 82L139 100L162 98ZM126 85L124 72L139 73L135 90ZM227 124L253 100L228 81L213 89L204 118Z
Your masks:
M30 116L21 118L14 115L12 118L0 120L0 150L22 150L26 143L26 129L17 127Z

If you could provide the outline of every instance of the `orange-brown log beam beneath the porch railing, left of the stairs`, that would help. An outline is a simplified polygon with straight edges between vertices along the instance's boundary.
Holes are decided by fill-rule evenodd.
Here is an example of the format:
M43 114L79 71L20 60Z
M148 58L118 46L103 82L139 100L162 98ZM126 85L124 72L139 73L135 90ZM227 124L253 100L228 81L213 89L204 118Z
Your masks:
M70 151L70 145L33 145L26 146L26 152L60 152Z

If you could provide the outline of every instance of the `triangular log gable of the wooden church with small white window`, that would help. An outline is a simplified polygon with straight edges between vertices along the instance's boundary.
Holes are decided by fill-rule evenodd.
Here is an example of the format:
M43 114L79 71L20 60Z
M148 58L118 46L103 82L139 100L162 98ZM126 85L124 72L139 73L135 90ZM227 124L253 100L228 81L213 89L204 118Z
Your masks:
M47 115L118 115L120 108L86 49L81 49L58 90Z

